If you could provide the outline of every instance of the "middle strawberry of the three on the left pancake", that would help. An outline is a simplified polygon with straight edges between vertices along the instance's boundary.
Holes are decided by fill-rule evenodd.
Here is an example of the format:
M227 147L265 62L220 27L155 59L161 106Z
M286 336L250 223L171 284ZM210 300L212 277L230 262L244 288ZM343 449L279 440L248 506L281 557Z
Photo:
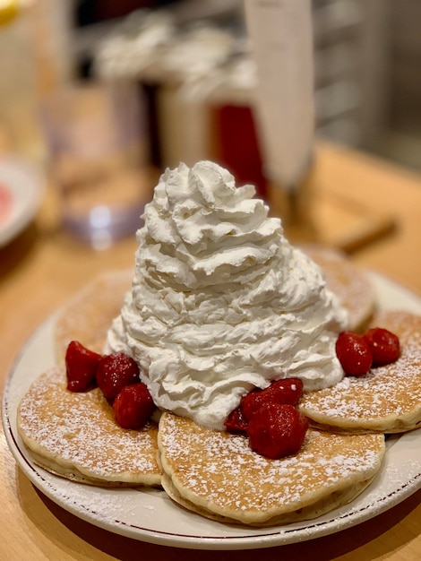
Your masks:
M104 355L99 360L97 384L107 400L114 400L125 385L140 382L139 367L124 352Z

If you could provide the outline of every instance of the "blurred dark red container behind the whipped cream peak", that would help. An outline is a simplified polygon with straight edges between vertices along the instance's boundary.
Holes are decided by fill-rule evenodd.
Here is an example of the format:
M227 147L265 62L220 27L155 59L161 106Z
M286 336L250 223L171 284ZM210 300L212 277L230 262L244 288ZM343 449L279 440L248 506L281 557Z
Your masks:
M252 109L226 105L213 111L215 159L236 177L237 185L251 183L261 198L266 195L262 156Z

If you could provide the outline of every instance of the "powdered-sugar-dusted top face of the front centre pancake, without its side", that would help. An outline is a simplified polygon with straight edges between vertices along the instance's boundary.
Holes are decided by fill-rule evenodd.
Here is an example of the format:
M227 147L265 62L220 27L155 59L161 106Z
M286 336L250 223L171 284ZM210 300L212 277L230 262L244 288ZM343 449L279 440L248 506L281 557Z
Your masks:
M332 490L372 477L382 436L339 436L310 430L299 453L272 461L253 453L243 436L211 431L164 416L159 449L178 485L228 510L292 510Z

